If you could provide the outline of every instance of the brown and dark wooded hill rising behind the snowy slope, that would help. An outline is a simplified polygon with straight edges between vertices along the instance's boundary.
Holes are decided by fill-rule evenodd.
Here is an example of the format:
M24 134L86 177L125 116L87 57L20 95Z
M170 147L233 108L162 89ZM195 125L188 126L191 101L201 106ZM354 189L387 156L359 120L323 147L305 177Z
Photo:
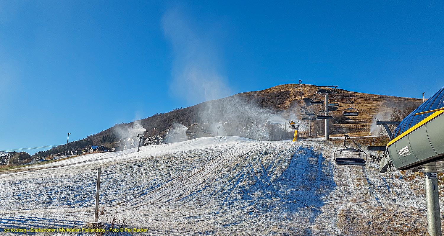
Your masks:
M131 131L138 127L139 129L144 128L152 134L153 132L162 132L175 123L183 124L186 127L196 123L211 123L214 126L218 122L224 123L227 120L230 120L231 128L227 128L226 134L255 139L256 136L252 132L263 131L262 127L265 128L267 120L277 119L285 123L289 119L301 120L301 108L308 108L313 112L323 110L321 105L310 105L309 103L313 96L317 99L324 99L320 95L313 95L316 91L316 85L286 84L260 91L238 93L187 108L176 108L170 112L158 113L131 123L116 124L114 127L90 135L85 139L68 143L68 147L70 150L82 149L88 145L105 145L111 148L113 142L118 141L119 138L133 136L134 132L131 133ZM357 93L344 89L337 89L337 93L329 98L337 100L340 104L333 111L337 122L334 120L331 122L340 123L341 127L339 124L333 124L331 130L333 135L341 135L342 130L354 135L368 135L370 131L375 134L379 127L374 125L372 116L380 120L389 120L393 108L411 109L422 103L422 99ZM342 110L352 106L350 101L353 101L355 108L359 108L360 114L357 117L345 118L342 116ZM313 122L313 133L323 134L322 123L323 121ZM301 124L307 125L306 123ZM203 126L196 125L195 127ZM211 132L207 129L205 131ZM138 132L140 133L140 131ZM198 129L197 132L199 132ZM301 132L301 135L306 135L306 132ZM65 146L60 145L48 151L38 152L35 156L48 156L64 150Z

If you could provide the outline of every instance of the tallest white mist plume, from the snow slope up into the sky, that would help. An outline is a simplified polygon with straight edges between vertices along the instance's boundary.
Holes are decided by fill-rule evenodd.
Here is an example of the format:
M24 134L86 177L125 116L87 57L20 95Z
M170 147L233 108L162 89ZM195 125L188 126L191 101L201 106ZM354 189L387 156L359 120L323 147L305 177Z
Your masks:
M203 36L207 32L199 34L190 22L179 8L170 9L162 18L166 38L171 41L174 49L171 93L190 103L208 101L198 104L199 120L196 121L211 122L210 129L214 135L246 135L257 140L269 139L269 129L263 126L275 112L262 108L254 97L227 97L230 89L220 73L219 65L222 63L218 51L208 36ZM221 97L226 98L212 101ZM226 120L232 120L233 123L227 127L221 126L217 131L218 123Z

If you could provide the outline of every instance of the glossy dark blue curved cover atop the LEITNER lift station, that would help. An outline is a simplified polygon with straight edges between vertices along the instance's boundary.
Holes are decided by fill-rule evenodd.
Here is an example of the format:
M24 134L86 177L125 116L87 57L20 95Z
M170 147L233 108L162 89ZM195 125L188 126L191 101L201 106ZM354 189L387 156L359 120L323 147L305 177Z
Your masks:
M429 112L426 114L415 116L416 113L426 112L442 107L444 107L444 88L440 89L440 91L435 93L435 95L427 99L427 101L425 101L412 113L406 116L404 120L402 120L401 123L398 124L390 140L396 138L396 136L402 134L403 132L407 131L409 128L415 126L415 124L420 123L421 120L424 120L427 116L433 114L433 112Z

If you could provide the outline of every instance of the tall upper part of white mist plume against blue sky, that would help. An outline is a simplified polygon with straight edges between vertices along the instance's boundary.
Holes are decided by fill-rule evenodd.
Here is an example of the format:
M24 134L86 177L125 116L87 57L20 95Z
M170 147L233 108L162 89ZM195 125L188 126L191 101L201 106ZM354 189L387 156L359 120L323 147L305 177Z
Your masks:
M221 62L214 46L202 39L180 9L168 10L162 18L166 38L174 49L170 92L190 103L226 97L230 90L220 75Z

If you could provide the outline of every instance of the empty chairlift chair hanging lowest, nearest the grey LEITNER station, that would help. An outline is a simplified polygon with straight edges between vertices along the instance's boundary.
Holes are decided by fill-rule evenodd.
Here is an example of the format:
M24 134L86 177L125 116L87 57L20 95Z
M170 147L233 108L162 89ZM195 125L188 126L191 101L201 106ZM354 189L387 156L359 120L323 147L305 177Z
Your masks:
M367 162L367 154L362 149L354 149L347 147L345 141L350 138L349 135L344 135L344 147L335 151L333 154L334 162L337 165L351 165L351 166L365 166Z

